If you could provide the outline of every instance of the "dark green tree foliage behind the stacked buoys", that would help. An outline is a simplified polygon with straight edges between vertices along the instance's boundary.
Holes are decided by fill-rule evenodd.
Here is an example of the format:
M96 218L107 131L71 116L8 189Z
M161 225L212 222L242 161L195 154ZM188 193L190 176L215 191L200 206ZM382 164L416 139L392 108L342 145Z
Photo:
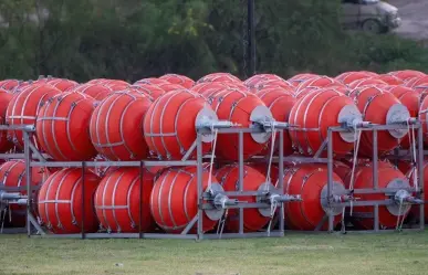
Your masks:
M428 67L415 42L342 32L338 0L255 2L259 72ZM246 8L246 0L2 0L0 78L243 77Z

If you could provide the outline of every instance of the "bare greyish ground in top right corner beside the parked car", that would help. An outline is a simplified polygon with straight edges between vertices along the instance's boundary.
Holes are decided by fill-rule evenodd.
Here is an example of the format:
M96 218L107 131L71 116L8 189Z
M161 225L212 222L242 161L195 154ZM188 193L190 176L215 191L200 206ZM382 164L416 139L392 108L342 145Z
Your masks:
M428 40L428 1L427 0L389 0L398 8L403 24L394 32L414 40Z

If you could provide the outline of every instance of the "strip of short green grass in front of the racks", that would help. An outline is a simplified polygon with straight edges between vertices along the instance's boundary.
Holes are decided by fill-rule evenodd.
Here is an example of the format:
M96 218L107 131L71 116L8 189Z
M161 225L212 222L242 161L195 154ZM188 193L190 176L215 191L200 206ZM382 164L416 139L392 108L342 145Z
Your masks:
M0 235L0 274L428 274L428 232L234 241Z

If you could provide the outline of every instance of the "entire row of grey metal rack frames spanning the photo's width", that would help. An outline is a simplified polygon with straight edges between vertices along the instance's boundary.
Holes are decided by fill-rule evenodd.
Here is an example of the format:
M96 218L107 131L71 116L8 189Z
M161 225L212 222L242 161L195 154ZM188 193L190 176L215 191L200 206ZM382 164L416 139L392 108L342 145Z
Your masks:
M358 128L358 130L365 130L365 131L373 131L373 171L374 171L374 180L373 180L373 188L372 189L355 189L353 190L353 194L364 194L364 193L386 193L394 197L394 194L399 191L398 189L394 188L386 188L386 189L379 189L378 188L378 173L377 173L377 160L378 160L378 154L377 154L377 133L379 130L390 130L390 129L405 129L407 126L405 125L373 125L368 128ZM419 181L419 189L415 188L408 188L405 191L408 191L410 193L416 194L416 198L418 200L425 201L424 197L424 149L422 149L422 128L419 123L414 125L414 128L418 133L418 146L417 146L417 168L418 168L418 181ZM225 128L225 129L218 129L219 134L234 134L238 136L239 139L239 190L236 192L225 192L220 191L218 194L222 195L231 195L231 197L246 197L246 195L260 195L268 198L269 195L272 195L273 193L275 195L280 195L282 198L285 198L281 203L279 203L279 211L276 212L275 219L278 220L278 230L272 230L271 232L253 232L253 233L247 233L244 232L243 226L243 209L246 208L259 208L259 209L270 209L271 203L269 203L269 200L264 200L263 202L257 202L257 203L247 203L247 202L237 202L232 203L231 205L228 205L228 209L239 209L239 232L237 233L206 233L202 231L203 220L199 219L203 216L205 212L207 210L213 210L215 205L212 203L203 203L207 199L212 199L212 193L202 192L202 135L208 133L208 129L200 129L197 134L197 139L192 144L191 148L187 151L186 156L178 161L157 161L157 160L142 160L142 161L46 161L44 159L44 156L39 152L39 150L35 148L35 146L31 142L31 135L34 131L33 126L23 126L23 127L10 127L10 126L0 126L0 130L22 130L23 131L23 138L24 138L24 152L23 155L17 155L17 156L6 156L0 155L2 158L22 158L25 161L25 169L27 169L27 191L28 194L32 195L32 187L29 184L31 182L31 172L30 169L32 167L46 167L46 168L54 168L54 167L75 167L75 168L83 168L82 169L82 188L84 189L84 171L87 168L95 168L95 167L136 167L139 168L140 171L140 180L144 177L144 167L155 167L155 166L169 166L169 167L182 167L182 166L196 166L197 167L197 183L198 183L198 214L192 219L192 221L188 224L188 226L180 233L180 234L168 234L168 233L143 233L140 232L142 224L138 224L138 231L139 233L85 233L84 232L84 224L82 222L81 224L81 233L79 234L46 234L44 230L39 225L38 221L34 219L34 216L31 213L31 201L32 198L30 198L27 202L27 214L28 214L28 224L27 224L27 234L28 236L43 236L43 237L76 237L76 239L112 239L112 237L135 237L135 239L191 239L191 240L203 240L203 239L234 239L234 237L261 237L261 236L283 236L284 235L284 205L283 203L286 203L288 201L299 200L299 198L286 198L286 194L283 193L283 181L279 180L276 189L275 190L269 190L265 191L243 191L243 166L244 166L244 159L243 159L243 135L247 133L260 133L260 129L257 128ZM326 208L338 208L338 207L351 207L352 204L354 207L374 207L374 229L373 231L363 231L363 232L379 232L384 231L379 229L379 207L380 205L392 205L396 203L394 198L389 200L382 200L382 201L347 201L347 202L337 202L333 199L333 133L343 133L343 131L349 131L348 128L342 128L342 127L331 127L327 130L327 139L324 140L322 148L315 154L314 157L283 157L283 139L284 139L284 133L283 130L278 130L279 133L279 155L278 157L273 158L274 162L278 162L279 165L279 179L283 178L284 172L284 162L321 162L327 165L327 173L328 173L328 182L327 182L327 198L326 198ZM197 159L196 160L189 160L189 156L192 154L192 151L197 151ZM327 150L327 157L326 158L320 158L321 154L323 151ZM1 190L1 189L0 189ZM272 192L274 191L274 192ZM143 198L143 184L140 184L139 195ZM347 191L348 195L351 194L351 191ZM82 202L84 201L84 192L82 192ZM293 202L290 202L293 203ZM82 203L82 210L83 213L85 211L84 204ZM225 209L223 209L225 210ZM419 219L419 229L417 230L424 230L425 229L425 215L424 215L424 204L420 204L420 219ZM143 216L143 207L139 207L139 221L142 221ZM326 213L324 219L320 222L317 230L321 229L321 226L328 222L328 232L334 232L333 228L333 220L334 215ZM34 226L36 230L36 233L34 234L32 231L31 225ZM194 225L196 225L197 230L196 233L189 233L191 229L194 229ZM361 232L361 231L357 231Z

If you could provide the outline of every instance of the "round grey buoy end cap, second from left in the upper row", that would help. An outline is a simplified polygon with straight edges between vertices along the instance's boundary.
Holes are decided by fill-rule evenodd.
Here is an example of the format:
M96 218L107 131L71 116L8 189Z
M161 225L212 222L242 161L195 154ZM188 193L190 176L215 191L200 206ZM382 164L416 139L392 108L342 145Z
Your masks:
M261 133L251 133L252 139L258 144L268 142L272 133L264 130L264 123L275 121L275 119L272 116L271 110L267 106L263 106L263 105L257 106L251 112L250 121L252 121L251 128L262 129Z

